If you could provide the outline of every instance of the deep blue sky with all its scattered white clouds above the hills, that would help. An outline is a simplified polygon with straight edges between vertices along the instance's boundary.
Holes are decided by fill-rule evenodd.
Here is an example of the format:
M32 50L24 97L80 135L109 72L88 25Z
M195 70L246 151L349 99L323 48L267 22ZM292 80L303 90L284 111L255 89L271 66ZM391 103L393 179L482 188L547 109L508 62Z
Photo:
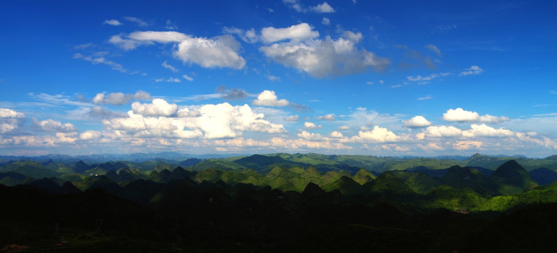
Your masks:
M557 154L555 1L0 1L0 155Z

